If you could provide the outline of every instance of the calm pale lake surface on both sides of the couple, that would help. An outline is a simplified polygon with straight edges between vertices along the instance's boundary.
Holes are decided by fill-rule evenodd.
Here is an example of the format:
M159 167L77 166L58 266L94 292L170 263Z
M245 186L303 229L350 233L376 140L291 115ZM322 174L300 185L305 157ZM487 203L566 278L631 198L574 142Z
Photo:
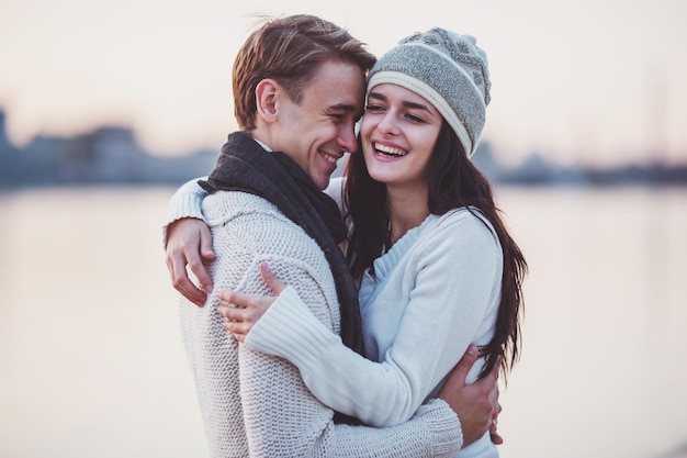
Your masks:
M207 456L171 188L0 194L0 456ZM687 189L498 190L530 264L503 457L687 455Z

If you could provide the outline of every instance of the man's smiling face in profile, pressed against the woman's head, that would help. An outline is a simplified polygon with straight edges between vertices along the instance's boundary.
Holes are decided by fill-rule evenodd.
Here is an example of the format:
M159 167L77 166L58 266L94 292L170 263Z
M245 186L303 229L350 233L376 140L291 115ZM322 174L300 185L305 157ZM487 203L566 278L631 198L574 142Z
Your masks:
M323 64L301 104L282 100L279 138L272 137L270 146L293 158L319 189L326 188L337 160L358 148L354 124L363 98L364 77L358 66Z

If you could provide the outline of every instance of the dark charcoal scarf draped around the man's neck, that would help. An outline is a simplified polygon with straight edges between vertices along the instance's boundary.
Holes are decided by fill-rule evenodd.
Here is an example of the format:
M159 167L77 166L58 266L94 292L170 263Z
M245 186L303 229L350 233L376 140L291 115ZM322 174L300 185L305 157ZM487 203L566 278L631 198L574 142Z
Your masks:
M347 228L336 202L284 153L266 152L246 132L235 132L222 147L214 170L200 185L210 193L240 190L270 202L317 242L336 282L341 310L341 340L359 354L362 327L358 289L338 243Z

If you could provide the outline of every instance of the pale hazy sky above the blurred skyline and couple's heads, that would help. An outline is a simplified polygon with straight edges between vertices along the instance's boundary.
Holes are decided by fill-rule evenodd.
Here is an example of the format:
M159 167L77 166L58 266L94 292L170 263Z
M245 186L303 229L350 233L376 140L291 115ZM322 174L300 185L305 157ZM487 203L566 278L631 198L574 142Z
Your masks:
M151 153L216 148L236 129L230 67L251 14L312 13L376 55L435 25L476 36L492 76L483 138L505 160L537 150L563 165L687 161L687 1L230 3L0 0L10 138L108 123L131 126Z

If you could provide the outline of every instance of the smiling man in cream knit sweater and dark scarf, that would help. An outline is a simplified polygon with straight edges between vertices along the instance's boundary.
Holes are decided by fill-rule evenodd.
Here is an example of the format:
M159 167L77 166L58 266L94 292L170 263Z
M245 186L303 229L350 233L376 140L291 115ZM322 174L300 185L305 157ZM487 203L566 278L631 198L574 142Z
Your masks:
M373 63L360 42L318 18L266 23L249 36L234 65L241 132L229 135L203 183L210 192L203 213L216 254L209 265L214 291L267 293L258 270L267 260L353 349L361 338L357 291L337 246L346 227L336 204L319 190L336 161L357 149L353 127L362 112L364 74ZM180 255L178 245L167 249L176 287L198 304L204 294L185 277L191 257ZM198 261L190 266L201 271ZM209 278L202 283L209 284ZM441 400L388 428L336 423L335 417L347 418L319 403L294 366L239 346L224 331L219 303L212 292L204 308L181 306L213 457L453 456L463 435L470 442L487 429L495 376L455 390L453 398L461 402L451 405L465 409L459 412L461 423ZM472 360L474 355L455 372L459 381Z

